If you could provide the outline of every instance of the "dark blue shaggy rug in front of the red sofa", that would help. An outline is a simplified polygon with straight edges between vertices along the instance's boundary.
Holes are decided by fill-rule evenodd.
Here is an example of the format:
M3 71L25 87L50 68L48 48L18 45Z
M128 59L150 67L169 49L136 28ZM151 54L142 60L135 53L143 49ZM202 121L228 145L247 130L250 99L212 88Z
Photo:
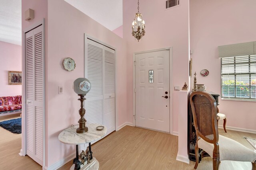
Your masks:
M4 128L12 133L20 134L21 133L21 118L1 121L0 127Z

